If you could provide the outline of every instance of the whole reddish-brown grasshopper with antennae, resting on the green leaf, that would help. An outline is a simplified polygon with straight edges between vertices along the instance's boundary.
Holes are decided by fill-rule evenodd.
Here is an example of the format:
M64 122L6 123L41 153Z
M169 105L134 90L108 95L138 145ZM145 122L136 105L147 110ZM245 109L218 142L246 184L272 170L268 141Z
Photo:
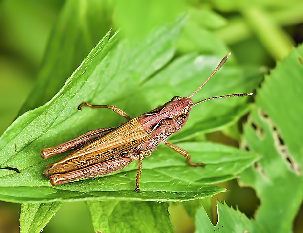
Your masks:
M139 181L142 160L144 157L150 156L160 142L186 157L186 162L190 166L204 167L204 163L191 162L191 155L187 151L173 145L166 139L171 134L180 131L188 119L191 108L195 105L211 99L232 96L242 97L253 94L230 94L193 103L191 97L222 67L230 54L223 58L216 70L188 97L175 96L164 105L133 119L116 106L92 105L86 102L80 104L78 106L79 110L83 106L109 108L128 121L116 128L92 130L58 146L43 149L41 156L44 159L65 151L75 150L65 158L49 165L44 171L46 178L54 186L62 185L81 178L94 178L121 170L134 160L139 159L135 191L140 192Z

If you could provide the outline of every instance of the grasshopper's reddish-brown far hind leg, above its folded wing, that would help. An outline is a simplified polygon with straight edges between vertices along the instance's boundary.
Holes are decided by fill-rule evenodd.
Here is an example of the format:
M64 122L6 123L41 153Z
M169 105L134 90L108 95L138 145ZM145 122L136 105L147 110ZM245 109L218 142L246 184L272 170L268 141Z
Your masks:
M41 151L41 157L43 159L47 159L50 156L57 155L69 150L76 150L82 148L85 145L92 143L95 140L98 140L103 135L107 134L114 128L100 128L96 130L92 130L83 134L73 140L67 141L60 145L45 148Z

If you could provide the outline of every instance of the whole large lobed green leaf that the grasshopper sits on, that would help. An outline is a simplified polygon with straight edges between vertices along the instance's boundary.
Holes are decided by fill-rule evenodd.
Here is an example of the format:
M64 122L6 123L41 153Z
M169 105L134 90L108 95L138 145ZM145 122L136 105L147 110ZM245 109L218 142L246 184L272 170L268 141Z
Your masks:
M185 159L176 152L160 146L143 162L142 192L139 194L133 191L137 172L135 163L115 174L55 187L50 185L42 173L46 164L59 159L59 156L55 156L44 161L39 156L42 148L60 144L100 126L117 126L123 122L121 116L107 110L107 114L88 108L77 111L76 107L82 101L116 104L120 108L135 101L128 109L130 116L138 116L145 109L148 111L157 106L154 99L163 103L171 99L173 93L186 91L190 94L203 82L198 75L204 69L211 73L219 58L185 56L151 78L172 58L183 24L184 17L181 17L174 23L154 30L140 43L121 41L115 44L117 35L108 41L107 34L50 102L20 116L0 138L0 164L17 167L21 174L1 170L0 198L13 202L112 198L176 201L204 198L224 191L223 188L209 184L236 177L257 159L255 154L212 143L180 144L192 154L194 161L207 164L203 169L187 166ZM177 64L180 66L177 67ZM195 67L193 71L187 69L192 67ZM178 75L167 76L178 71L181 71ZM250 91L256 80L245 80L239 72L237 67L230 67L224 72L220 70L216 76L219 83L225 86L210 82L209 89L199 93L199 96L205 93L222 95L232 90ZM184 79L193 76L196 77L191 81ZM172 86L170 92L168 84ZM134 98L136 95L139 97ZM192 116L199 116L196 119L198 121L205 116L230 112L231 108L245 104L245 98L225 100L213 101L211 105L205 103L202 117L198 107L192 110ZM195 118L191 118L191 121L185 127L195 127ZM175 158L173 154L176 154ZM203 157L199 158L200 155Z

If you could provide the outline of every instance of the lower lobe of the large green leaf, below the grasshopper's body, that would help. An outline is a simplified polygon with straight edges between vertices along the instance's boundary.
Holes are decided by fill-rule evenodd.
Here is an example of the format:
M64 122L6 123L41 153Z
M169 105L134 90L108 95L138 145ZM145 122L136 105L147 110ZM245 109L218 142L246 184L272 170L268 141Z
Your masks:
M115 174L62 186L51 186L43 178L42 163L22 170L23 177L27 179L19 174L2 177L1 186L5 188L1 188L0 198L13 202L112 198L148 201L193 200L224 191L223 188L209 184L235 178L257 159L253 153L214 143L182 143L178 146L189 151L194 162L202 161L207 166L189 167L185 163L185 158L160 145L159 150L143 161L141 193L135 193L133 191L137 173L135 163Z

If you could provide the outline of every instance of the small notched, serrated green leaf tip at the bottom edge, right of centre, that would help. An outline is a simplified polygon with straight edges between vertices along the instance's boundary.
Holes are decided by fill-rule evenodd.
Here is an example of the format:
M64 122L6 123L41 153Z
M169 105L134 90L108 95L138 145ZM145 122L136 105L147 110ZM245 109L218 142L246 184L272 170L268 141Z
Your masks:
M239 210L234 210L226 204L217 202L218 223L216 226L209 220L203 207L195 217L196 233L210 232L262 232L254 220L248 219Z

